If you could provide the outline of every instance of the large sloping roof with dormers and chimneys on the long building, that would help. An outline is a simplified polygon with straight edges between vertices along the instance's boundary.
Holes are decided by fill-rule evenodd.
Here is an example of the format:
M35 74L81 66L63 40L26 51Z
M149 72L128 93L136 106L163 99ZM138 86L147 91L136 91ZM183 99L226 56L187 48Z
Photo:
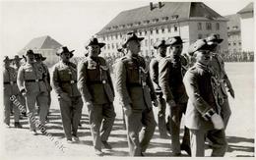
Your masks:
M177 19L175 19L175 17ZM154 4L153 10L151 10L149 5L123 11L96 34L100 35L113 30L122 30L121 26L123 25L125 27L130 25L130 27L127 28L132 29L138 26L156 26L164 23L170 24L177 21L195 20L197 18L200 20L225 20L224 17L202 2L162 2L161 7L159 4ZM146 21L150 21L150 23L145 24ZM131 24L133 24L133 26L131 26Z

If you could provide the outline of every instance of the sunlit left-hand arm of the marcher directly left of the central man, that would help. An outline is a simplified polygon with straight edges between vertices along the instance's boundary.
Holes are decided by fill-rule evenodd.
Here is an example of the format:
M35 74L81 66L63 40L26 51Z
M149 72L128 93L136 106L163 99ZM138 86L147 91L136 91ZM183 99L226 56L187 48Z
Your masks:
M83 61L78 64L78 89L86 102L93 101L87 85L87 65Z

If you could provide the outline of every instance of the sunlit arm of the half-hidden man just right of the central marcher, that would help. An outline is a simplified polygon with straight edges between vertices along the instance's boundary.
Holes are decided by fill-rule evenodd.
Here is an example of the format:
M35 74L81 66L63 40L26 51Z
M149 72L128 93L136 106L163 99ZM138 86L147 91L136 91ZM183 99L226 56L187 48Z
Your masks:
M159 87L159 66L158 61L153 59L150 63L150 78L155 88Z

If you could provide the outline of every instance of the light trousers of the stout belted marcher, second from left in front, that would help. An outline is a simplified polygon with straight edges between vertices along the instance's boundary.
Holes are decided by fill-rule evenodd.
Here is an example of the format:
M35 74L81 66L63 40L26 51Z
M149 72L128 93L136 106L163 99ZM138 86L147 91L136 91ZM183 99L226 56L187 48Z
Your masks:
M35 102L40 107L39 121L43 126L45 124L45 116L47 114L47 92L33 92L25 96L26 106L29 110L28 118L30 130L35 130Z

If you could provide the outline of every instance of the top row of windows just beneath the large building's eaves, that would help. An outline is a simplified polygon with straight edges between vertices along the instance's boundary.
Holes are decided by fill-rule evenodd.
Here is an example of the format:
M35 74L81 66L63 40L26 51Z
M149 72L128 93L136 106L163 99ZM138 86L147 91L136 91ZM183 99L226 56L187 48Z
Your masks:
M172 27L160 27L160 28L150 28L149 30L134 30L138 35L140 36L144 36L144 35L148 35L148 33L153 34L154 30L156 34L160 34L160 33L165 33L165 32L171 32L171 28ZM178 27L176 25L173 26L173 31L176 32L178 31ZM114 39L118 39L118 38L122 38L123 35L126 33L115 33L115 34L111 34L111 35L105 35L102 36L103 41L105 40L114 40Z

